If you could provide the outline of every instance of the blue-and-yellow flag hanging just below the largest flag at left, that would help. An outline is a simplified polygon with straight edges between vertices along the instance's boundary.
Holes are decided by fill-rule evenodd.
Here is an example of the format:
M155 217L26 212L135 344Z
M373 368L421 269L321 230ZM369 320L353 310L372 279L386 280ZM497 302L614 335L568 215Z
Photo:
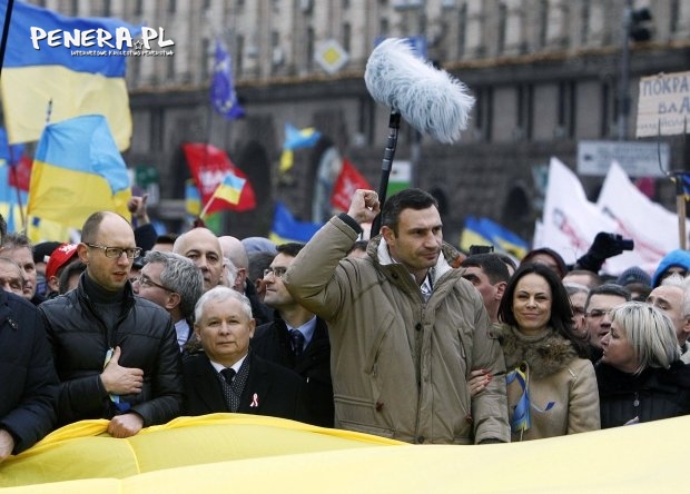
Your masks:
M130 218L129 175L102 115L46 127L33 157L29 215L81 228L96 211Z

